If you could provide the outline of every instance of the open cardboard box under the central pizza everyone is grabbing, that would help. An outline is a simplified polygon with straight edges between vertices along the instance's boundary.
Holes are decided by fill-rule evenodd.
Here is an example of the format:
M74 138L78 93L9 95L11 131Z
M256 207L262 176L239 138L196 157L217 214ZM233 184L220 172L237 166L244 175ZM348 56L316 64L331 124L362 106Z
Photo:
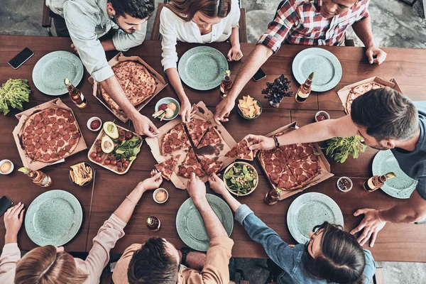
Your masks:
M224 126L219 125L214 121L214 114L212 113L212 111L209 111L209 109L207 109L204 102L199 102L198 104L195 104L194 109L196 110L195 119L203 119L205 121L210 121L212 123L212 126L210 127L215 127L219 131L224 142L223 145L221 145L220 147L214 148L214 151L209 151L212 149L209 149L209 147L204 147L200 149L194 149L195 153L203 154L209 158L218 157L218 160L224 163L221 168L221 170L223 170L231 163L234 163L235 158L226 158L224 155L236 145L236 141L234 140L234 138L232 138L231 134L226 131ZM153 153L155 160L158 163L161 163L167 160L168 158L171 158L171 155L163 155L161 153L161 144L163 143L163 138L165 134L168 133L170 129L173 129L173 127L180 124L180 122L182 122L182 120L180 119L180 116L178 116L176 119L173 119L172 121L169 121L167 124L160 127L160 129L158 129L158 136L153 138L148 137L145 139L146 143L151 148L151 152ZM205 151L206 149L207 151ZM185 190L187 188L187 182L189 179L177 175L176 171L178 170L179 165L185 160L187 152L187 149L184 149L173 153L173 156L180 154L180 158L178 161L178 166L175 168L175 173L172 174L172 178L170 179L170 181L173 182L173 185L175 185L175 187L179 188L180 190ZM207 182L207 179L207 175L204 175L204 177L201 178L203 182Z

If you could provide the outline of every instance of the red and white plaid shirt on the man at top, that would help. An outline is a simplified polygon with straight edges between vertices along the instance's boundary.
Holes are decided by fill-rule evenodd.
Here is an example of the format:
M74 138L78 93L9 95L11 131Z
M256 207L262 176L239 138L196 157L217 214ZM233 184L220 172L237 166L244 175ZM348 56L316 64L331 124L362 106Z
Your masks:
M340 45L346 28L368 17L369 0L359 0L345 13L333 18L321 16L322 0L284 0L268 31L258 44L271 48L273 53L281 43L302 45Z

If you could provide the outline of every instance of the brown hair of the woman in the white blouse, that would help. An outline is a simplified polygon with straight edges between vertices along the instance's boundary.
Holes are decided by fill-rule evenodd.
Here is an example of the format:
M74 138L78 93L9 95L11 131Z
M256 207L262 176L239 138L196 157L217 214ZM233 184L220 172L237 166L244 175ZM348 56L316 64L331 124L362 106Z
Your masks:
M187 22L198 11L209 18L224 18L231 12L231 0L170 0L165 6Z

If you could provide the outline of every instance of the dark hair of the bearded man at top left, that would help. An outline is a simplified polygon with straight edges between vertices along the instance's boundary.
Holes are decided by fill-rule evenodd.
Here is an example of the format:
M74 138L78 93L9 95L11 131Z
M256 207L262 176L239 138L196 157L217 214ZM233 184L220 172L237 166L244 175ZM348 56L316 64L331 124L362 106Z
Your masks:
M108 0L116 11L116 16L125 16L128 13L133 18L146 18L155 10L154 0Z

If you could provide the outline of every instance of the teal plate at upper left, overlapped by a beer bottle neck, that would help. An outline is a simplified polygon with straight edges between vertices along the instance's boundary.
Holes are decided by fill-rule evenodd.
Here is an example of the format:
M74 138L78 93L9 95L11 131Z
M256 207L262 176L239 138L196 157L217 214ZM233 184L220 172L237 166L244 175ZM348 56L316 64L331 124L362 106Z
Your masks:
M77 86L83 78L83 64L80 58L68 51L54 51L40 58L33 69L35 87L44 94L59 96L66 94L64 79Z

